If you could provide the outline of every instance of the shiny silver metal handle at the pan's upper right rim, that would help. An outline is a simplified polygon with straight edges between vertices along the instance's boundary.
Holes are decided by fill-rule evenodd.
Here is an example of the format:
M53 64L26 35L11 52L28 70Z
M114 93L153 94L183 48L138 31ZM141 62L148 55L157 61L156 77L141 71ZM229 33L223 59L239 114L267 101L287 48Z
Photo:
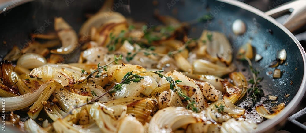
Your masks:
M291 12L290 16L286 18L283 25L291 32L299 29L301 26L306 24L306 1L305 0L294 0L282 4L274 9L271 9L265 14L277 18L285 13Z

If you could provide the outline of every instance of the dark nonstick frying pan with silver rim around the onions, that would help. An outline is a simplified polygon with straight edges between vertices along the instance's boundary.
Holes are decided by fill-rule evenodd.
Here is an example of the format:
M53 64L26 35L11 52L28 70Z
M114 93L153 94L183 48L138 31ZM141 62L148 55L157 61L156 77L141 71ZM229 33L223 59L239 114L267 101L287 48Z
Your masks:
M190 31L189 37L198 38L204 29L221 31L229 38L234 55L237 54L241 45L252 38L251 44L255 53L263 56L261 61L253 61L252 64L255 69L260 71L259 77L263 77L260 84L265 96L278 96L278 104L284 102L286 105L280 114L271 120L262 119L255 110L255 106L262 103L265 103L266 108L271 107L271 104L267 103L266 97L259 99L251 111L246 111L247 118L260 123L257 132L277 131L285 124L285 118L293 113L302 100L306 90L305 51L288 29L264 12L233 0L122 1L123 4L120 7L113 8L116 12L136 21L145 21L150 25L161 24L154 18L155 13L174 16L182 22L209 14L213 18L210 21L191 25L193 30ZM42 33L53 31L53 22L56 16L63 17L78 32L82 23L87 19L85 14L95 13L103 5L103 2L102 0L4 1L0 6L2 9L6 8L0 14L0 58L2 59L9 52L13 45L22 48L30 43L32 40L29 34L35 30L40 30ZM116 3L118 1L115 1L114 4ZM275 14L274 11L270 14ZM247 31L243 35L236 36L231 30L231 25L236 19L241 19L246 23ZM282 77L274 79L269 72L273 72L275 68L268 66L276 59L277 53L281 49L287 51L287 60L285 61L287 65L283 64L277 67L282 71ZM64 63L76 62L79 54L80 50L76 50L67 55ZM248 67L246 62L236 59L233 61L239 71ZM250 75L248 69L243 72L245 75ZM247 76L247 78L249 77ZM285 96L288 94L289 97L286 98ZM252 104L251 101L245 96L241 102L237 103L237 106L244 108L245 105L250 104ZM24 117L22 120L26 119Z

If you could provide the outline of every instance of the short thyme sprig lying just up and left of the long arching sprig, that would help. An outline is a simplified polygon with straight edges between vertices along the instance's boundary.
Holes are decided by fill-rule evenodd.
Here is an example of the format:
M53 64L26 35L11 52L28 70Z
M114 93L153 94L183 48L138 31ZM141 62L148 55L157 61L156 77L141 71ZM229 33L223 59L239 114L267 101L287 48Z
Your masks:
M100 66L100 63L99 63L97 69L93 70L91 73L89 73L89 75L88 75L85 79L83 79L83 80L81 80L81 81L79 81L79 82L84 82L86 79L92 78L92 77L93 77L92 75L93 75L95 72L98 72L97 75L95 75L95 77L100 77L101 75L99 75L99 74L102 73L103 70L104 70L104 71L107 71L106 68L107 68L108 65L110 65L110 64L112 64L112 63L118 64L118 61L119 61L119 60L122 60L122 58L123 58L122 54L120 54L118 57L115 55L113 61L110 61L109 63L107 63L107 64L105 64L105 65L103 65L103 66ZM102 69L103 69L103 70L102 70ZM85 70L82 70L81 77L84 75L84 73L85 73Z

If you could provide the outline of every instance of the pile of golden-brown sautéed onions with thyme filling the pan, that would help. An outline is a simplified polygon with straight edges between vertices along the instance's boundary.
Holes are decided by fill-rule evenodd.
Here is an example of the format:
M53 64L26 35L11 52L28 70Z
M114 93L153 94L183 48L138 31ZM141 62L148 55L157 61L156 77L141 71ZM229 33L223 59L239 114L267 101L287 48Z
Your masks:
M244 116L254 104L235 105L245 96L253 103L266 96L264 79L252 67L251 60L263 58L253 52L252 40L234 55L218 31L203 30L195 39L188 37L189 23L170 16L157 15L163 25L151 26L105 13L102 8L91 16L79 34L56 17L54 33L32 35L43 42L14 47L6 55L0 69L6 124L26 132L256 131L257 123ZM62 64L77 49L79 61ZM271 67L286 56L281 50ZM248 62L251 75L237 71L233 58ZM281 78L278 69L274 78ZM256 110L269 119L284 106ZM26 112L28 120L22 122L16 110Z

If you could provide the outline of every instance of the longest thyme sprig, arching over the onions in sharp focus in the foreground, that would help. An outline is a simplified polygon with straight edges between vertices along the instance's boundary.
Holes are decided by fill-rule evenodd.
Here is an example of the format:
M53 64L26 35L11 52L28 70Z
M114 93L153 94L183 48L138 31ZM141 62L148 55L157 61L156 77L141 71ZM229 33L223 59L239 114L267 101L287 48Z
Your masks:
M100 66L100 67L102 68L102 66ZM95 99L87 100L86 103L84 103L84 104L82 104L80 106L74 107L64 117L62 117L62 119L67 117L69 114L71 114L74 109L83 107L83 106L87 105L88 103L94 102L94 101L100 99L101 97L103 97L104 95L106 95L107 93L114 93L114 92L122 90L123 89L122 85L124 85L124 84L130 84L131 82L141 82L140 80L144 79L144 77L140 76L140 74L142 74L142 73L155 73L160 78L165 77L166 80L170 83L170 89L173 90L174 92L177 91L178 95L183 97L188 102L186 108L187 109L191 109L194 112L198 112L198 108L196 107L197 106L196 101L195 100L191 100L191 98L188 97L187 95L185 95L182 92L181 88L177 86L177 84L179 82L182 82L182 81L180 81L180 80L173 80L171 77L163 75L161 72L164 72L164 71L163 70L158 70L158 71L143 71L143 72L137 72L137 73L133 73L133 71L132 72L128 72L128 73L126 73L124 75L124 77L122 78L121 82L116 83L111 89L107 90L101 96L98 96Z

